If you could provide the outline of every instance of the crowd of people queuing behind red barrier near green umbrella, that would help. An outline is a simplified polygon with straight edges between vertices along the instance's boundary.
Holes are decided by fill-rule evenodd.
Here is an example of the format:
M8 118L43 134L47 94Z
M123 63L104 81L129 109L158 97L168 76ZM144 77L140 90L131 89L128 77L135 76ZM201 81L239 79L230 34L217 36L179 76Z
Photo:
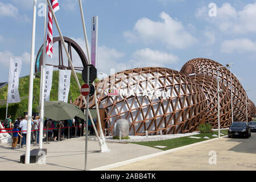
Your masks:
M94 125L97 125L96 118L93 118ZM16 147L17 143L21 143L21 148L26 145L26 137L27 137L27 115L24 117L17 117L15 122L13 123L11 120L11 115L7 115L5 121L2 121L2 126L5 129L12 129L13 133L10 133L12 138L11 149L18 148ZM40 117L36 116L35 118L32 116L31 119L31 142L35 142L35 144L39 144L39 129L40 129ZM59 142L64 140L64 138L74 138L84 136L85 129L85 121L84 119L80 119L75 117L73 119L61 120L61 121L53 121L52 119L47 118L44 121L44 132L43 132L43 140L44 141L54 141ZM33 131L35 130L35 131ZM10 131L10 130L8 130ZM92 126L92 121L88 119L88 133L90 135L94 135L94 129ZM21 140L21 141L20 141Z

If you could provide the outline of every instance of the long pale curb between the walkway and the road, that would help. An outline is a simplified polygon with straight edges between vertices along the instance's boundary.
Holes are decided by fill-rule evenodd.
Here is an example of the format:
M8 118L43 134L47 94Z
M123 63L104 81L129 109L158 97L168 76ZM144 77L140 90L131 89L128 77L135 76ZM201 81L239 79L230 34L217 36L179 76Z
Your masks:
M220 138L224 138L224 137L226 137L226 135L223 136L223 137L220 137ZM150 159L150 158L154 158L154 157L159 156L159 155L169 154L169 153L171 153L171 152L183 150L183 149L185 149L185 148L197 146L197 145L199 145L199 144L212 142L212 141L218 140L218 139L219 139L219 138L217 137L217 138L205 140L205 141L203 141L203 142L192 143L192 144L188 144L187 146L172 148L172 149L170 149L170 150L166 150L166 151L162 151L162 152L157 152L157 153L155 153L155 154L145 155L145 156L141 156L141 157L138 157L138 158L125 160L125 161L122 161L122 162L118 162L118 163L109 164L109 165L106 165L106 166L101 166L101 167L89 169L89 171L105 171L105 170L112 169L112 168L115 168L115 167L121 167L121 166L124 166L124 165L126 165L126 164L131 164L131 163L134 163L134 162L138 162L138 161L141 161L141 160L144 160L144 159Z

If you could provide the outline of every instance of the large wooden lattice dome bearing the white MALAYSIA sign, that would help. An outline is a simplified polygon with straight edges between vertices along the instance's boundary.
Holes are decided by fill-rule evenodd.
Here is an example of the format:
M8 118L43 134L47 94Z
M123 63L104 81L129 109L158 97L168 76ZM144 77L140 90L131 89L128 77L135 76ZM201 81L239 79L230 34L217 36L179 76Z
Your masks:
M119 89L119 96L109 96L109 89ZM121 91L122 90L122 91ZM128 90L134 96L123 96ZM151 94L140 95L144 91L155 90ZM169 93L157 96L160 93ZM163 92L162 92L163 91ZM138 92L136 94L136 92ZM130 135L149 135L189 133L199 126L205 109L203 91L189 77L167 68L136 68L106 77L96 85L100 108L105 109L108 133L113 134L114 123L127 119ZM73 103L85 107L80 96ZM90 98L90 108L95 107Z

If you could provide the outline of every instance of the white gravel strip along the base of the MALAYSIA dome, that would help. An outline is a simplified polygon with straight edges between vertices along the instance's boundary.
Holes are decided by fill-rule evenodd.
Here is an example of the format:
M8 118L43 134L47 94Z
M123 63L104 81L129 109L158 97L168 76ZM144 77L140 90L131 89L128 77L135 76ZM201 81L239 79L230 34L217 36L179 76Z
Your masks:
M191 135L198 135L200 134L200 131L195 131L193 133L185 133L185 134L172 134L172 135L148 135L146 136L134 136L129 135L130 139L113 139L112 136L106 136L105 140L106 142L148 142L148 141L159 141L159 140L167 140L167 139L173 139L173 138L180 138L180 137L187 137ZM90 136L88 138L89 140L98 140L95 136Z

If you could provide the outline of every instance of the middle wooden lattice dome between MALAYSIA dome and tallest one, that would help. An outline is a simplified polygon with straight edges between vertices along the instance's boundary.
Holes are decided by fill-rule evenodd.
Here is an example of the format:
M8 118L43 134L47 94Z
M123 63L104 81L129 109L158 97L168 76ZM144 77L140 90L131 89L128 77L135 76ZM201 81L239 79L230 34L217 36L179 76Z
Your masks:
M203 90L206 100L205 122L218 128L218 103L216 78L208 75L189 76ZM232 123L231 95L229 90L220 82L220 128L226 128Z

